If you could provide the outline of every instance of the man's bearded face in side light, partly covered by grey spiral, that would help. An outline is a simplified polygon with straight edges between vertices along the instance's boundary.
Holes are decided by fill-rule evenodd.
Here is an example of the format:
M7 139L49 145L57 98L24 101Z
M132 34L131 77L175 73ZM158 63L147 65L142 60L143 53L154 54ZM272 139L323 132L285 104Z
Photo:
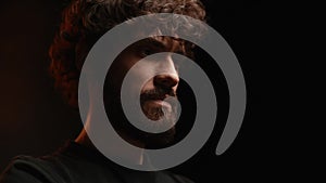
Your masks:
M137 90L139 89L139 82L137 81L146 80L140 90L140 106L145 116L152 120L152 123L148 125L160 128L161 125L164 125L161 122L175 122L177 115L176 105L163 101L168 96L176 96L179 82L177 68L172 54L167 53L154 60L147 60L146 57L159 52L179 53L181 51L183 48L179 41L167 37L156 37L147 38L131 44L116 57L109 69L104 88L104 101L105 106L109 107L109 117L113 117L113 120L110 121L112 121L113 127L123 133L123 135L139 140L147 146L153 147L171 143L175 128L159 134L153 134L133 127L124 117L121 108L120 92L126 74L130 71L128 75L135 79L135 82L127 86L126 89L131 95L139 95L139 90ZM130 70L130 68L142 58L143 63ZM158 73L160 74L156 75Z

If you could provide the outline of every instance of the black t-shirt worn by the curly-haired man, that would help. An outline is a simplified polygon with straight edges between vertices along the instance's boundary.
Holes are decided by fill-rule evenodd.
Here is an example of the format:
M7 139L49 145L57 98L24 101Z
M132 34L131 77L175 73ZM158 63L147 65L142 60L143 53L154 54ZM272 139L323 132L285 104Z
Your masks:
M192 183L167 171L137 171L121 167L97 151L68 142L52 155L18 156L0 183Z

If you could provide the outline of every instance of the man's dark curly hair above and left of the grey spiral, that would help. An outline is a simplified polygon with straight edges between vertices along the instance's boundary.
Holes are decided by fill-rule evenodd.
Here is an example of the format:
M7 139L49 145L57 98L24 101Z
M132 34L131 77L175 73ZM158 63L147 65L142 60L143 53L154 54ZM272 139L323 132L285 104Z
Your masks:
M55 89L71 106L77 107L80 69L95 42L115 25L152 13L205 18L199 0L72 0L63 10L59 32L49 50L50 73Z

